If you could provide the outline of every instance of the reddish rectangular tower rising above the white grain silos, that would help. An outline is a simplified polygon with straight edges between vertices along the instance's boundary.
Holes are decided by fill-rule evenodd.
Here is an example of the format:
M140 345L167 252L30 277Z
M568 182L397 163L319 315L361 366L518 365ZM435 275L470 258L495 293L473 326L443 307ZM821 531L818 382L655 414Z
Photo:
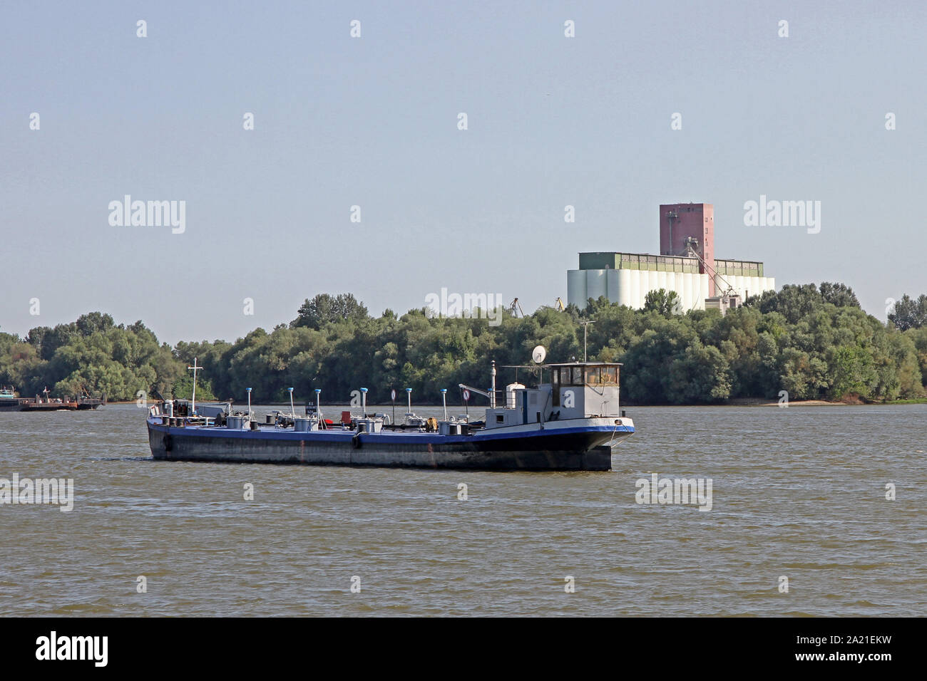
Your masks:
M661 204L660 255L684 256L689 246L705 261L699 263L699 271L708 275L708 295L714 296L715 207L710 203Z

